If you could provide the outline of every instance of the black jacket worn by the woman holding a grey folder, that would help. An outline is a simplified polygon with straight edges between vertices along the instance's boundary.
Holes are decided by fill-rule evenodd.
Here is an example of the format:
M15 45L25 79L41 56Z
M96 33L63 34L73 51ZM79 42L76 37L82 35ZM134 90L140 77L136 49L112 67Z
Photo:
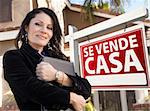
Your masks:
M67 109L71 107L70 91L82 95L85 99L90 96L89 82L79 76L68 75L73 81L72 87L60 86L55 81L48 83L37 79L35 70L41 60L42 56L29 44L4 54L4 78L9 83L20 110L38 111L41 105L46 109Z

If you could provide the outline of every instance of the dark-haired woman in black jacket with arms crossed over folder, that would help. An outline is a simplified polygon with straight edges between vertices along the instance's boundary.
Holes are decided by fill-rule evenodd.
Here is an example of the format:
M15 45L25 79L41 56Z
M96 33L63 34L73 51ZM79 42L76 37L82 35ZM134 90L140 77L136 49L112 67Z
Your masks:
M21 111L83 110L91 94L89 82L42 62L43 56L67 60L60 49L61 37L55 13L48 8L37 8L22 22L16 38L17 49L4 54L4 78Z

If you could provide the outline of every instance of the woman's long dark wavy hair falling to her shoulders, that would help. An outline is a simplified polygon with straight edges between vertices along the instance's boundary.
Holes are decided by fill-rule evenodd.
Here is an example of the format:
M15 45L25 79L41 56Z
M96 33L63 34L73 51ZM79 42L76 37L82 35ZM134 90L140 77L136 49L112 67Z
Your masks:
M21 27L20 27L20 31L17 35L17 38L15 40L15 45L17 48L19 48L19 41L22 42L22 44L25 44L26 43L26 28L29 26L29 23L31 21L32 18L34 18L37 14L39 13L45 13L47 14L48 16L50 16L50 18L52 19L53 21L53 36L52 38L49 40L49 45L46 45L44 47L44 50L45 51L52 51L54 56L62 56L62 57L59 57L58 58L61 58L61 59L68 59L61 51L61 39L62 39L62 32L61 32L61 28L60 28L60 25L59 25L59 21L58 21L58 18L56 16L56 14L49 8L36 8L36 9L33 9L32 11L30 11L26 17L24 18L22 24L21 24ZM48 47L51 47L50 49Z

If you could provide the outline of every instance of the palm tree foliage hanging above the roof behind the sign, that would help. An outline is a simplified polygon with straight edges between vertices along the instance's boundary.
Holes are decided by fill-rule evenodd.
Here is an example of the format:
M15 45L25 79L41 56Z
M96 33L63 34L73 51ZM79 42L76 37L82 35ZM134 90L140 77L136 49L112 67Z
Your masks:
M124 13L124 4L129 0L85 0L83 4L83 12L86 13L85 19L93 22L93 11L103 9L118 14Z

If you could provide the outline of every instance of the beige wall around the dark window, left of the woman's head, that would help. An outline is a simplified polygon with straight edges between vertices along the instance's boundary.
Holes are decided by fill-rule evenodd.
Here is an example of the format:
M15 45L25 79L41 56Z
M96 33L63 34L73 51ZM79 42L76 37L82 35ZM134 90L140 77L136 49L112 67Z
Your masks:
M12 0L12 21L0 23L0 30L7 31L8 28L19 27L26 14L30 11L31 0ZM0 32L1 33L1 32ZM9 32L8 32L9 33ZM0 36L3 38L4 36ZM0 56L8 49L14 48L14 41L0 41Z

